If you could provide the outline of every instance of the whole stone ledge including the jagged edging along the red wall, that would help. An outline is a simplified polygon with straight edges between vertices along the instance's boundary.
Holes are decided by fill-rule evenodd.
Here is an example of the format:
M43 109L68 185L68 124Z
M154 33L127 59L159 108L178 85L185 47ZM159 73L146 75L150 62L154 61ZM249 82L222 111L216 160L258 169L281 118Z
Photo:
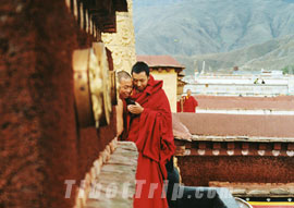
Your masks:
M114 138L85 174L74 208L133 207L137 158L134 143Z

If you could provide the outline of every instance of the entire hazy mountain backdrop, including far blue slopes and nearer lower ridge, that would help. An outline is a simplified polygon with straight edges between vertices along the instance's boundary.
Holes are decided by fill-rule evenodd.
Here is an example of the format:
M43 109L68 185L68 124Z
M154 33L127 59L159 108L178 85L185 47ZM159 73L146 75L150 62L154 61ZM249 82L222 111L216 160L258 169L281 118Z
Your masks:
M173 56L187 74L204 59L279 70L294 60L293 11L294 0L134 0L136 52Z

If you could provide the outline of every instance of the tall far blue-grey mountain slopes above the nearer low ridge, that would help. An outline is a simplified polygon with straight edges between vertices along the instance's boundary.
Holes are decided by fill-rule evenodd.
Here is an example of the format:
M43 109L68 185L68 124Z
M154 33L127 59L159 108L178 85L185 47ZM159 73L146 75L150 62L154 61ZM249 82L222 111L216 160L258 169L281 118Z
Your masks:
M134 0L136 52L191 60L262 44L294 34L293 11L294 0Z

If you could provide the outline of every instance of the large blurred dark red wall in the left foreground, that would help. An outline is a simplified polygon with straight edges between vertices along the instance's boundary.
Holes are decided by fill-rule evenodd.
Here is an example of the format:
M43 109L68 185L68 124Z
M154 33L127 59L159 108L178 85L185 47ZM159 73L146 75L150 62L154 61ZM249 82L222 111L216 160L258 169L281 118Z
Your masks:
M72 52L90 46L65 1L0 5L0 207L72 207L64 180L79 180L115 124L79 130Z

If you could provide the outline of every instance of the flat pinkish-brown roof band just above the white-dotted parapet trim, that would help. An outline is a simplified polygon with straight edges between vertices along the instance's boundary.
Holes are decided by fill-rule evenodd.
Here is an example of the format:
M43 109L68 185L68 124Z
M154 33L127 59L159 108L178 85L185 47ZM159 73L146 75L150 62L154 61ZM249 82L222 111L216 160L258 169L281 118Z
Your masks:
M185 112L174 115L192 135L294 137L293 115Z

